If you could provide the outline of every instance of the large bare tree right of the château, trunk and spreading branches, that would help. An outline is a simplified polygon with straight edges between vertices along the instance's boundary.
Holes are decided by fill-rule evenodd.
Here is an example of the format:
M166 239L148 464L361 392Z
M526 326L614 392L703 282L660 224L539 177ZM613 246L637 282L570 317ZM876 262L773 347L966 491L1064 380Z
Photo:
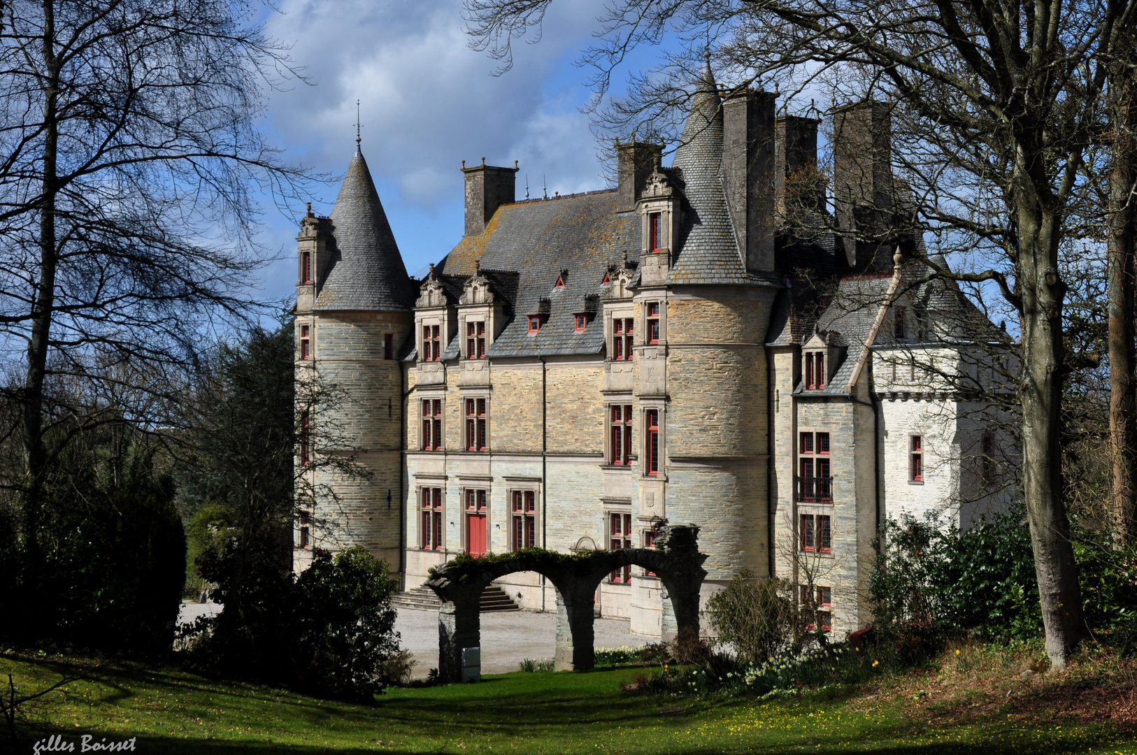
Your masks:
M513 40L539 27L550 2L466 0L475 47L508 67ZM1127 43L1135 14L1132 0L620 0L603 19L601 43L586 53L597 66L600 113L631 49L669 31L688 41L686 59L672 55L656 75L633 80L629 98L601 117L609 125L666 124L667 108L682 101L667 92L690 81L689 61L703 49L733 88L779 81L792 93L824 84L835 98L894 102L894 155L921 224L979 251L964 272L927 259L932 275L991 285L1019 318L1022 486L1055 666L1086 636L1062 497L1068 283L1059 254L1106 63Z

